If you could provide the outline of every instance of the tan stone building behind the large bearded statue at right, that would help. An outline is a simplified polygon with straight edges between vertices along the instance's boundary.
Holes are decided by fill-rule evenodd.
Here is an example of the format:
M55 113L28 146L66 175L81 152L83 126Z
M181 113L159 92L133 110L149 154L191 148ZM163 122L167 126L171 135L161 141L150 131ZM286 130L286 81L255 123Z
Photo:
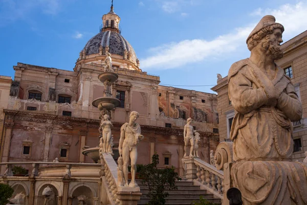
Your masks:
M307 151L307 31L295 36L281 45L283 57L276 64L291 77L295 91L301 100L303 118L292 122L294 153L293 160L302 161L304 151ZM217 110L219 114L218 129L220 141L229 139L229 132L234 117L234 109L228 98L228 77L218 78L217 85L211 90L217 92Z

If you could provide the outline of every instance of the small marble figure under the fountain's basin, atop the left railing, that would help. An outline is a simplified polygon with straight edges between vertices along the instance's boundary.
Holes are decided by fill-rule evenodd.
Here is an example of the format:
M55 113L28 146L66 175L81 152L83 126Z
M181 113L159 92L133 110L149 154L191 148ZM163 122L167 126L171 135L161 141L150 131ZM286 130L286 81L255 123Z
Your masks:
M111 134L112 127L113 125L112 125L112 122L110 121L110 117L108 115L103 115L103 119L101 119L101 123L99 127L99 132L102 133L102 137L100 138L100 144L99 144L99 147L102 149L101 153L108 152L108 147L109 147L110 140L112 137L112 134Z

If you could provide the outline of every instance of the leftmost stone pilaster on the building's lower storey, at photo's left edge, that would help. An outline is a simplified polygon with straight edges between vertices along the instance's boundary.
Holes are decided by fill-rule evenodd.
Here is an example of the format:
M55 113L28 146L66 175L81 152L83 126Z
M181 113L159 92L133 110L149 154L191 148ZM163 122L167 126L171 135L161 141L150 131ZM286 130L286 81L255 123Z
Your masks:
M4 143L2 144L2 162L9 161L9 154L10 154L10 147L11 147L11 137L13 132L14 122L13 120L6 120L4 127L5 127L5 135L4 135ZM4 174L6 168L5 166L1 166L1 174Z

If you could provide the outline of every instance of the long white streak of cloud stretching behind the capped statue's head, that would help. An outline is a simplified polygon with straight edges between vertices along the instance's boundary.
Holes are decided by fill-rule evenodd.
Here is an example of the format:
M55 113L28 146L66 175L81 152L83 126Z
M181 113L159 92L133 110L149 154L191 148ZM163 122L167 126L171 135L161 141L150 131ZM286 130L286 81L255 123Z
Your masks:
M289 39L307 28L306 10L307 1L301 1L295 5L282 5L275 10L257 9L253 14L261 17L267 14L274 15L276 22L281 23L286 29L283 36ZM246 47L246 38L259 20L257 16L253 23L217 36L213 40L186 39L150 48L151 55L141 59L142 68L171 69L216 57L223 59L239 47Z

